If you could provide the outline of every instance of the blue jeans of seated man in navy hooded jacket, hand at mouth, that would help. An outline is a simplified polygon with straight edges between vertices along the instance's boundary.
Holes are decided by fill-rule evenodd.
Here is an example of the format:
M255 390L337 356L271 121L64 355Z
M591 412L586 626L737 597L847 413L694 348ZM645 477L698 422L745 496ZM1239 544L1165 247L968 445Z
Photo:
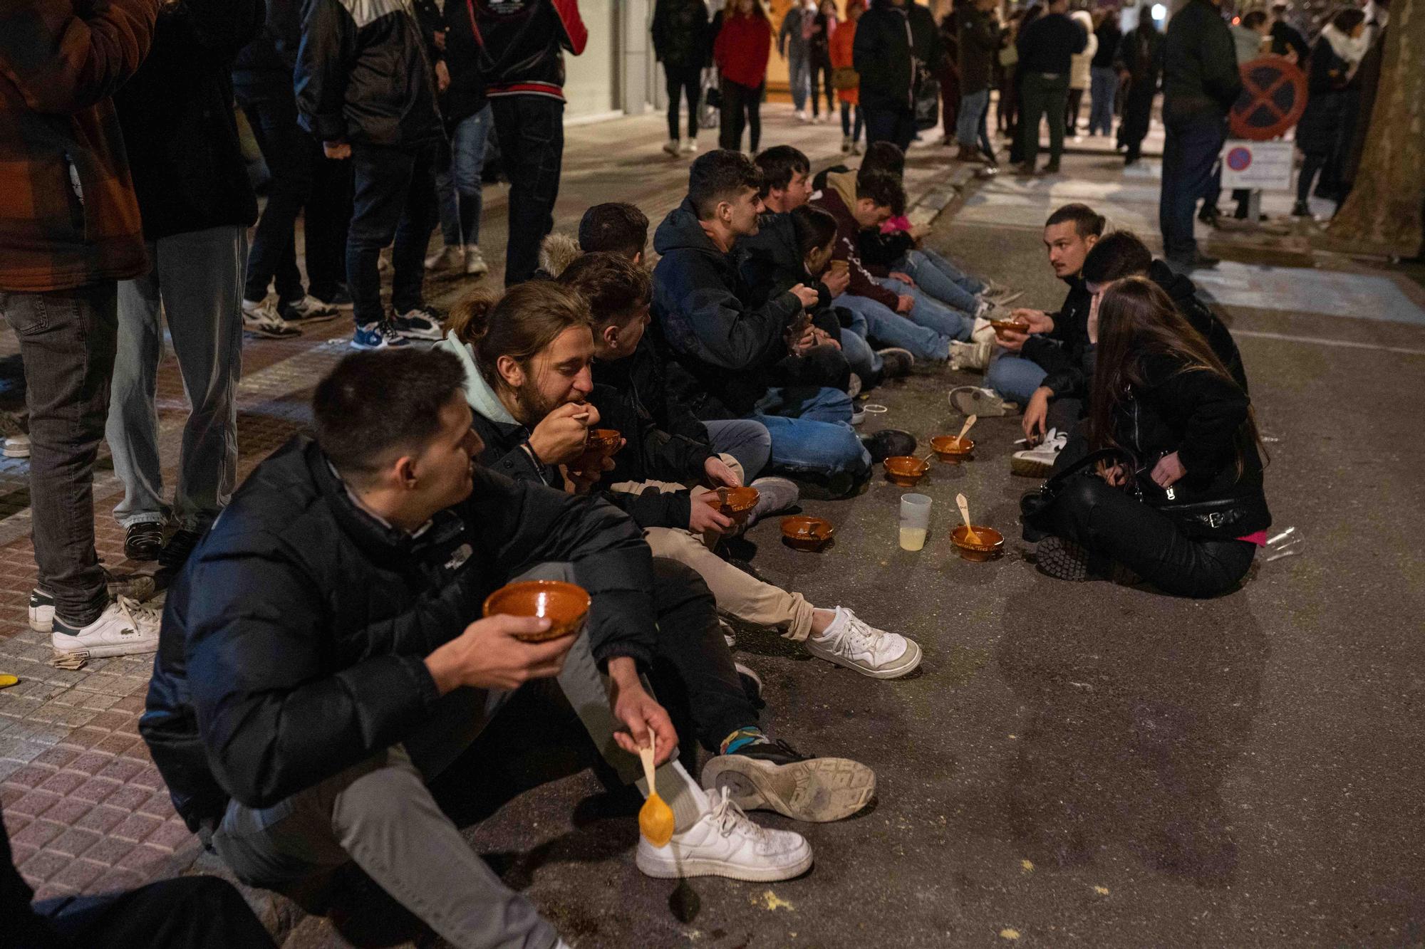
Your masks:
M836 389L768 389L747 416L772 436L772 467L808 474L871 470L871 453L851 427L851 396Z

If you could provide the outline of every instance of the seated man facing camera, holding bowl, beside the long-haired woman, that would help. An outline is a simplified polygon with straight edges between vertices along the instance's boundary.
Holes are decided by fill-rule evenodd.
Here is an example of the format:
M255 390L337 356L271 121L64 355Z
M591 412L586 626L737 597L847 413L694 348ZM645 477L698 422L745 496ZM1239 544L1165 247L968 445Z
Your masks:
M1103 234L1103 215L1086 204L1066 204L1045 221L1045 249L1054 276L1069 285L1063 306L1054 313L1016 309L1013 319L1025 332L998 331L1002 353L985 373L985 388L962 386L950 402L966 415L1005 415L1006 402L1025 406L1022 422L1027 447L1010 457L1010 472L1045 477L1053 469L1082 403L1066 400L1054 408L1059 392L1073 388L1083 372L1089 346L1090 294L1083 285L1083 261Z

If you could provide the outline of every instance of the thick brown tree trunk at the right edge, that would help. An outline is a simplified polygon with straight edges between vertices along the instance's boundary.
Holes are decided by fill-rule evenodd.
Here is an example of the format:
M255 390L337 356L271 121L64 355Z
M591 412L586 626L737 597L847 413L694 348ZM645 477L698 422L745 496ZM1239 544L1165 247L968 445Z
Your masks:
M1395 0L1355 187L1331 221L1332 244L1414 256L1425 217L1425 0Z

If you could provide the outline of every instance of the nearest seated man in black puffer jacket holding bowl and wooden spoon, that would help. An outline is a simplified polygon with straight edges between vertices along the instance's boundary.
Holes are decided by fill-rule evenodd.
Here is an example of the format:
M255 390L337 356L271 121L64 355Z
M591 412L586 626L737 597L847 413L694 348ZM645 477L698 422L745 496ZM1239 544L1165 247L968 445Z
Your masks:
M355 861L455 946L563 946L426 788L517 688L557 678L620 774L657 738L675 832L638 841L644 873L805 872L801 835L758 828L668 761L678 737L640 673L704 741L721 720L725 750L765 742L703 583L654 563L601 500L479 467L463 382L446 352L346 358L316 388L316 440L262 462L198 544L140 721L178 812L249 885L311 895ZM534 576L589 591L586 633L526 643L549 621L475 620Z

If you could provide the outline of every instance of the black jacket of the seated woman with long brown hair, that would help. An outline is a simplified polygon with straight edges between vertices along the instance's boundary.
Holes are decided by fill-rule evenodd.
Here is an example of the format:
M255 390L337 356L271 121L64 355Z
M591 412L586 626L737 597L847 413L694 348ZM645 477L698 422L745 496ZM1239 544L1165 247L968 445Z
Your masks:
M1134 386L1114 415L1114 440L1137 456L1144 474L1171 452L1187 472L1173 484L1173 497L1140 476L1146 499L1168 504L1231 502L1223 506L1226 523L1193 524L1190 533L1197 537L1228 540L1270 527L1261 456L1243 430L1251 408L1247 393L1213 372L1184 368L1176 356L1143 356L1139 366L1144 385Z

